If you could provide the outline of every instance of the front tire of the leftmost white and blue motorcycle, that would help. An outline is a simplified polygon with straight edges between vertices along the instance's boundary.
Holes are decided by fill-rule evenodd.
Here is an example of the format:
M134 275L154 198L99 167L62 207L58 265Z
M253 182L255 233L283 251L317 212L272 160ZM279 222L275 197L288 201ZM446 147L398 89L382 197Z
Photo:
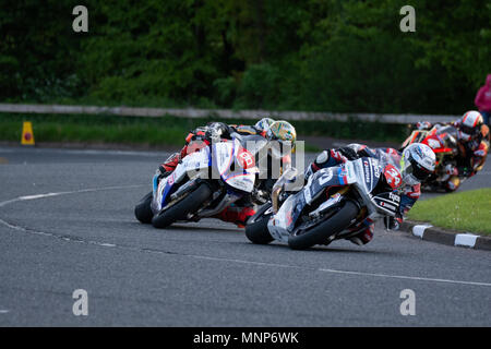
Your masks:
M156 214L152 218L152 225L161 229L177 220L183 220L188 214L196 212L209 196L212 190L206 183L202 183L180 202Z

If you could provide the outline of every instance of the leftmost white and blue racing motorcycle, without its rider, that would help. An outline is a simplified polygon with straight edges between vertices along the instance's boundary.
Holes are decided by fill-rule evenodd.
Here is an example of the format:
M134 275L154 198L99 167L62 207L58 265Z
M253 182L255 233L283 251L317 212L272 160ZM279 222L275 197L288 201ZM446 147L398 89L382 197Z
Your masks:
M157 171L152 192L134 208L135 217L165 228L212 217L247 195L259 196L255 158L266 144L261 136L236 134L189 154L165 178Z

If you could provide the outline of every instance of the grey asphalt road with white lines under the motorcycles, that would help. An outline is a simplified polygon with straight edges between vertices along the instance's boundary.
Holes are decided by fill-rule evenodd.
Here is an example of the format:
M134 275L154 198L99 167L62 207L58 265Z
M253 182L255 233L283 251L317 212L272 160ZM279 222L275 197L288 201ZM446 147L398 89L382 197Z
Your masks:
M382 229L366 246L291 251L216 219L137 222L164 158L0 147L0 326L491 325L487 251ZM86 316L73 314L76 289ZM400 313L406 289L415 315Z

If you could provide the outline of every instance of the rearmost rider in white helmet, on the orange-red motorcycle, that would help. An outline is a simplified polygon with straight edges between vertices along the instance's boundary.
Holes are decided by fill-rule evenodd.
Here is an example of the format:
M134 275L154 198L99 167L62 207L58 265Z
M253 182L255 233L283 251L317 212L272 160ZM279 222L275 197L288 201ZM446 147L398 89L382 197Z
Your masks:
M455 132L452 134L457 141L457 165L447 166L448 179L444 182L447 191L455 191L460 185L460 178L475 176L484 166L490 146L489 127L484 124L482 116L470 110L454 122L436 123L441 128L452 125ZM418 122L418 130L430 130L433 125L428 122Z

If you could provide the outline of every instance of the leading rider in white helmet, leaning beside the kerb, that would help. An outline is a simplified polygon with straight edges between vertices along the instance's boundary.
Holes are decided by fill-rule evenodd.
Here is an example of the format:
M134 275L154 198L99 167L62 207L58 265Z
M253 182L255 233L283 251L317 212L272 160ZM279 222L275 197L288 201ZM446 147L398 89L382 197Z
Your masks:
M307 168L306 180L322 168L338 166L360 157L372 157L381 164L391 164L400 170L403 183L398 189L400 194L399 213L396 217L388 217L385 220L387 229L397 230L403 222L403 216L420 196L420 183L434 171L435 155L433 151L421 143L409 145L403 153L393 148L369 148L367 145L360 144L349 144L337 149L325 149ZM355 244L362 245L373 239L373 231L374 221L367 218L352 229L348 239Z

